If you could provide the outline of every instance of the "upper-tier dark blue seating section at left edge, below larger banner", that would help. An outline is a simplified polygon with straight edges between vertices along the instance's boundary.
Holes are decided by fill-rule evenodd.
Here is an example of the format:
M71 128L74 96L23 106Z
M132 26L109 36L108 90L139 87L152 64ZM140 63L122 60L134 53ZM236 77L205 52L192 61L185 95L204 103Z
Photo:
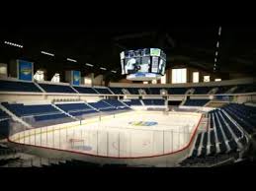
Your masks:
M14 82L0 80L0 92L31 92L42 93L42 91L31 82Z

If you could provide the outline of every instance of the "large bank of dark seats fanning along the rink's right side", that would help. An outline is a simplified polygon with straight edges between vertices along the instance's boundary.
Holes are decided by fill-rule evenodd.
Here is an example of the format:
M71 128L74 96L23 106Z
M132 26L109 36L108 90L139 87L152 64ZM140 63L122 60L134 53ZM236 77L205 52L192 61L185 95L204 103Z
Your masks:
M210 111L210 128L198 134L191 156L181 164L194 163L213 156L237 154L248 142L242 129L247 130L247 125L255 122L255 114L255 107L234 103ZM242 120L245 117L246 123ZM250 130L252 133L253 130Z

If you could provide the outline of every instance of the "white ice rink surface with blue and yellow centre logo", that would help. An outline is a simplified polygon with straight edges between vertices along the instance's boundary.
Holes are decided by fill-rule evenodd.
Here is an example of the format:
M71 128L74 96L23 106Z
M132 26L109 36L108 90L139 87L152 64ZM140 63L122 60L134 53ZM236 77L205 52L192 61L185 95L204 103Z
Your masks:
M198 113L129 111L85 120L71 127L43 127L15 136L15 142L102 157L138 158L170 154L186 147Z

